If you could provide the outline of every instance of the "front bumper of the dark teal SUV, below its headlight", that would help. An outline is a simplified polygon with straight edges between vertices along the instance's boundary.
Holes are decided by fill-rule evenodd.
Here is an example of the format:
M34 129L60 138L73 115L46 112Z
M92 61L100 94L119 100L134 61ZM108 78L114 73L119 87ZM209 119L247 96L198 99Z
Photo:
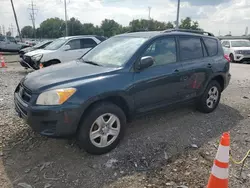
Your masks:
M15 110L19 117L44 136L64 137L76 133L81 110L76 106L31 106L18 93L14 94Z

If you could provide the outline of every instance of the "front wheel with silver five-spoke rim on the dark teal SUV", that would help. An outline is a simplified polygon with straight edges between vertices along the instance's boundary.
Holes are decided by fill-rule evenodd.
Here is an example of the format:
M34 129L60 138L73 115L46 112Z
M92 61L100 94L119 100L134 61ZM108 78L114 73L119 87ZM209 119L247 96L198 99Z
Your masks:
M115 120L113 124L108 123L111 120L111 115L113 117L112 120ZM125 126L126 116L121 108L107 102L96 104L82 118L77 132L78 145L90 154L101 155L107 153L118 145L124 136ZM111 134L110 131L117 136L109 135ZM91 136L91 133L93 136ZM103 144L106 143L105 138L107 139L106 145Z

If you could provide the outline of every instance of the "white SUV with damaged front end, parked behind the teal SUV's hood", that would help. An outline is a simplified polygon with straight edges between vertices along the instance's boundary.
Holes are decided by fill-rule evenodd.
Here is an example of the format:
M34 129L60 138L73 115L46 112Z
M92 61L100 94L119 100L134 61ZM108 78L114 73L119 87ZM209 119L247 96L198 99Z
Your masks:
M29 64L34 69L39 69L39 66L48 67L68 62L80 58L104 40L104 37L93 35L62 37L56 39L44 49L24 54L21 61Z

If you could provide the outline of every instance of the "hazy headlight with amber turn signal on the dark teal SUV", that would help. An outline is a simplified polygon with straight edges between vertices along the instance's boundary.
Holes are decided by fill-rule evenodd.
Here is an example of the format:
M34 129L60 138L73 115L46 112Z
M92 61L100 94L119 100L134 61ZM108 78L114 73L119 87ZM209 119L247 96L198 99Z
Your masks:
M63 104L65 101L67 101L75 92L76 92L75 88L65 88L65 89L45 91L38 96L36 104L60 105Z

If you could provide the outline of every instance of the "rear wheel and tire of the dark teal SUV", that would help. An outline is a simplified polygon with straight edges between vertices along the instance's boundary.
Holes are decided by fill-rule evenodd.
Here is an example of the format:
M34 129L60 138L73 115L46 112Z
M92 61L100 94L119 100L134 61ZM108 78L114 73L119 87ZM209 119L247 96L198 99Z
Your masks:
M197 109L203 113L213 112L220 102L221 91L220 84L216 80L212 80L198 100Z

